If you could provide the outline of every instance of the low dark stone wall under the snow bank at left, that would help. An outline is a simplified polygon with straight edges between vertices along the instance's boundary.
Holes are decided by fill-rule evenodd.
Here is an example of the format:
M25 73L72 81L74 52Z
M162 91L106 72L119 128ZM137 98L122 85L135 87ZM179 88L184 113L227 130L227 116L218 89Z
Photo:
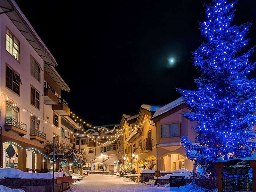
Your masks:
M25 192L49 192L52 191L52 179L0 179L1 185L9 188L22 189ZM69 183L71 186L71 183ZM71 187L70 187L71 188ZM54 180L54 192L58 192L60 183ZM63 184L63 190L68 189L68 184Z

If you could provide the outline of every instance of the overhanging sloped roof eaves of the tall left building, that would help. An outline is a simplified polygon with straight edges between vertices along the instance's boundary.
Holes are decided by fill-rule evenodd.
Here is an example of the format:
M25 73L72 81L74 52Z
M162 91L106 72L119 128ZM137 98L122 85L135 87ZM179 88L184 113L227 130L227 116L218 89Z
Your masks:
M6 12L5 14L10 18L20 33L26 38L28 43L35 49L42 60L44 60L44 70L47 72L47 74L54 79L56 84L60 86L60 89L69 92L70 88L54 68L58 64L52 56L52 53L48 50L44 42L37 35L35 29L29 23L28 19L20 10L16 2L14 0L1 1L0 7L3 11L13 10L11 12Z

